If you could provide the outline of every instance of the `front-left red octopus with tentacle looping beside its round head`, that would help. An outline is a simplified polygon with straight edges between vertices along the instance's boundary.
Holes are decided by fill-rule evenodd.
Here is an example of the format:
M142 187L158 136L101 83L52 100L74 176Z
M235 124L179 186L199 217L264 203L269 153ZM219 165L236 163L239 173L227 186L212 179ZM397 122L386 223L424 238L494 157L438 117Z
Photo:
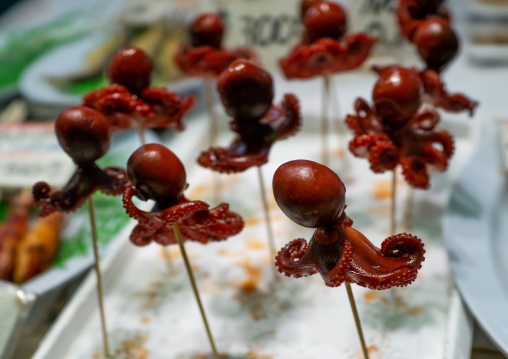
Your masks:
M129 158L127 173L132 181L123 194L127 214L138 221L130 240L137 246L155 241L161 245L176 243L172 226L178 222L184 240L207 243L222 241L239 233L242 218L222 203L210 209L202 201L189 201L183 195L187 188L185 168L178 157L159 144L141 146ZM136 196L153 200L151 212L137 208Z

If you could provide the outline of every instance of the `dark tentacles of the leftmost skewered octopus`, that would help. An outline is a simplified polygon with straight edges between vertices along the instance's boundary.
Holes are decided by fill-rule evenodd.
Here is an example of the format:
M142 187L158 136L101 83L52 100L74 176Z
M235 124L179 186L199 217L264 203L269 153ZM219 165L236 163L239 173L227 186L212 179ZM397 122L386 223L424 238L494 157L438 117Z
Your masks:
M59 191L52 191L46 182L33 186L35 205L41 207L40 215L47 216L55 211L71 212L80 208L96 191L104 194L121 195L130 185L123 168L100 169L95 164L78 166L69 182Z

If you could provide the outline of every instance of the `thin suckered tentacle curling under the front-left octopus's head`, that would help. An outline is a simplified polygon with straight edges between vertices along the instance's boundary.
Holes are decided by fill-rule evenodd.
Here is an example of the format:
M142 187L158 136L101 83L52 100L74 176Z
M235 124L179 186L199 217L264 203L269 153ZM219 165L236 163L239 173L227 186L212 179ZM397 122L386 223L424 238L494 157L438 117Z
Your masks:
M208 205L201 201L192 201L177 204L159 212L145 212L137 208L132 202L136 194L133 187L128 187L123 193L123 206L129 217L134 218L139 224L146 227L171 226L178 220L197 211L208 209Z

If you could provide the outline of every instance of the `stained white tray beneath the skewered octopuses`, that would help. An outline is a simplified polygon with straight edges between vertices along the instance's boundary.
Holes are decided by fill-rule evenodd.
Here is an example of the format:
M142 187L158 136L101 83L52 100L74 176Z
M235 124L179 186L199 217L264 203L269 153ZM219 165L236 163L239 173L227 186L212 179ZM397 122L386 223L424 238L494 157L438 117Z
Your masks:
M271 178L280 164L297 158L319 160L319 136L312 125L318 119L312 116L304 113L302 131L275 144L270 163L263 167L279 248L294 238L309 239L312 235L312 230L293 224L282 214L271 192ZM213 204L210 191L214 174L195 164L198 148L206 147L207 125L205 119L202 121L176 138L171 148L186 164L188 198ZM228 143L230 138L231 134L224 132L219 143ZM346 212L354 227L379 246L389 235L389 200L376 199L372 192L389 186L390 174L374 175L365 160L349 154L346 160L337 156L341 152L337 143L334 139L331 167L339 170L346 183ZM456 145L458 158L454 160L467 156L467 151L461 151L465 140L459 139ZM340 170L351 165L351 171L343 175ZM255 170L221 175L220 181L221 200L242 214L245 229L222 243L186 244L219 351L229 358L361 358L344 288L326 287L318 275L301 279L278 275L274 281ZM450 174L437 174L430 191L417 193L412 233L424 240L427 250L417 281L408 288L388 291L354 286L371 359L469 356L471 323L454 290L440 235L439 214L446 203L449 182ZM398 207L402 209L406 187L400 188ZM123 238L113 243L102 264L107 322L116 358L211 357L177 248L170 249L175 272L169 275L161 248L155 244L136 248L128 242L128 234L126 230ZM98 318L92 273L34 359L102 358Z

